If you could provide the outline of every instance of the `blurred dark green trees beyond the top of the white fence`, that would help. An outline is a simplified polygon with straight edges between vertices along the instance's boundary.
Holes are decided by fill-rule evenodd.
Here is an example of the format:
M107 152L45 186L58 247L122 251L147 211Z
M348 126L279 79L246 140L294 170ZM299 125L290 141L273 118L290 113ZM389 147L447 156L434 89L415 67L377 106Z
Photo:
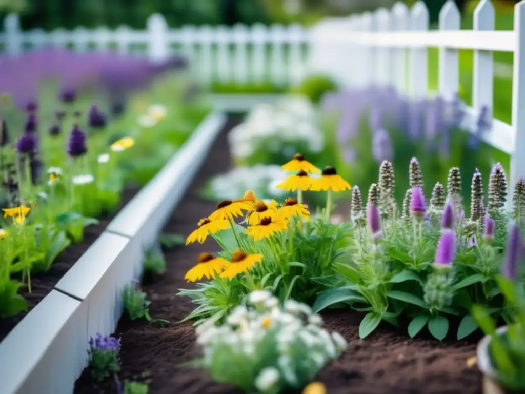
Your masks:
M416 0L404 0L413 5ZM446 0L424 0L431 22L437 22ZM346 16L355 12L391 7L395 0L0 0L0 18L9 12L21 16L24 29L46 30L77 26L110 28L128 25L144 28L153 13L163 14L172 27L185 24L293 23L307 25L325 16ZM478 0L455 0L458 7L475 7ZM518 0L492 0L498 7L512 9Z

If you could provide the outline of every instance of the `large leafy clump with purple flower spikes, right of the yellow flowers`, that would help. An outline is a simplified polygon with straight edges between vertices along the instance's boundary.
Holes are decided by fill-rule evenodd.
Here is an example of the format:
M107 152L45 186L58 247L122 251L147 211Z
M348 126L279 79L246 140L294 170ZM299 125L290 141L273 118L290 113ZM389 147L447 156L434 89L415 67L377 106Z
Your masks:
M506 198L505 171L500 164L492 171L488 212L481 173L475 172L471 216L466 218L459 169L449 171L447 202L443 186L437 183L427 210L419 186L423 179L419 179L415 163L413 160L409 167L414 186L405 193L401 217L395 208L391 215L385 215L384 208L381 210L383 199L379 206L369 202L366 228L354 232L357 236L353 237L348 261L334 265L339 278L345 280L334 281L313 305L314 312L340 303L367 312L360 326L361 337L385 320L395 326L407 323L411 337L427 327L435 338L443 339L449 331L449 319L459 318L455 334L461 339L478 329L470 314L473 304L485 306L495 319L507 314L497 279L510 215L502 205ZM393 171L387 167L388 172ZM384 174L384 168L380 178L381 171ZM359 190L356 187L354 192ZM514 194L520 193L518 182ZM520 198L514 199L518 207ZM515 219L520 212L514 209ZM509 272L515 275L512 269Z

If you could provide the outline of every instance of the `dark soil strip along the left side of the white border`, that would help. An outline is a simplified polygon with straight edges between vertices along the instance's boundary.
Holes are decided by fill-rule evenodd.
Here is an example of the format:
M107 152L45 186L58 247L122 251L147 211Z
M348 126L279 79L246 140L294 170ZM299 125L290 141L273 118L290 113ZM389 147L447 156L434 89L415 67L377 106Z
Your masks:
M25 312L20 312L16 316L0 319L0 341L15 328L31 309L53 290L60 278L64 276L66 272L69 271L69 268L78 261L80 256L88 250L91 244L95 242L98 236L106 229L106 226L118 211L120 211L138 191L139 188L137 186L126 187L122 194L119 209L116 212L99 219L99 224L86 227L82 242L70 245L64 252L60 253L57 260L51 265L49 271L31 275L31 293L27 291L27 286L24 286L20 291L20 294L27 300L28 308Z

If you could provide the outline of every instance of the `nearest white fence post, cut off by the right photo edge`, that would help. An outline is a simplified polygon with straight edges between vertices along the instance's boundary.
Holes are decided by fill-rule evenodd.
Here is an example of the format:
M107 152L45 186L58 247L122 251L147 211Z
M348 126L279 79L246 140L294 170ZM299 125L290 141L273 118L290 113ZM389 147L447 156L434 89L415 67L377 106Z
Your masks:
M525 178L525 0L514 6L514 34L516 47L512 76L514 151L510 158L511 190L519 178Z

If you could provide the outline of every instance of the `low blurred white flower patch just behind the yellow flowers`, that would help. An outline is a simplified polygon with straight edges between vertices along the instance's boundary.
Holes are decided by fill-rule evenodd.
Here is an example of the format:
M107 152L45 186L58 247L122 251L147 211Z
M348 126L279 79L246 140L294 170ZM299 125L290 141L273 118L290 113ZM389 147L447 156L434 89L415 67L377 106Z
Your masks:
M217 175L209 182L211 193L219 200L235 200L246 190L253 190L257 196L278 199L287 194L277 189L288 173L279 165L257 164L253 167L235 167L233 170Z

